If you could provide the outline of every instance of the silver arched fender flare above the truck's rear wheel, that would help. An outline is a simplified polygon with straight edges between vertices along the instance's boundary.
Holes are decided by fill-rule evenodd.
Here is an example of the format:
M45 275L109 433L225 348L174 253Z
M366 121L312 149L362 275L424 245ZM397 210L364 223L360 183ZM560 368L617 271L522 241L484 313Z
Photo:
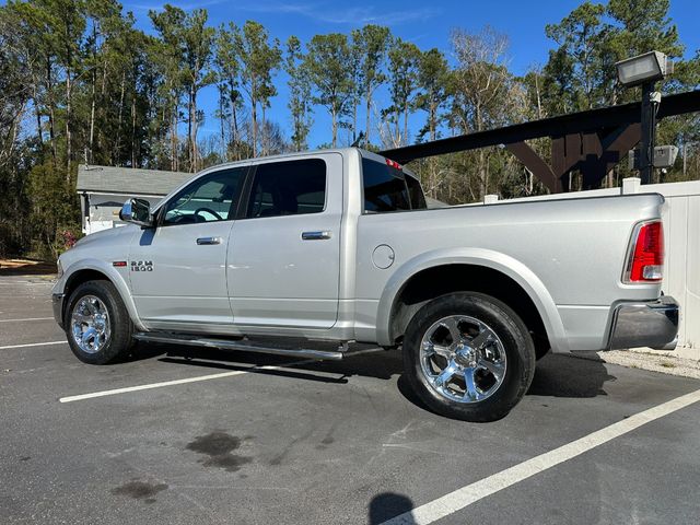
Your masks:
M500 271L513 279L529 295L542 319L552 351L569 352L563 324L557 305L545 284L523 262L513 257L485 248L444 248L423 253L401 265L390 277L382 296L377 311L377 341L389 346L390 316L394 303L404 285L416 273L445 265L482 266Z

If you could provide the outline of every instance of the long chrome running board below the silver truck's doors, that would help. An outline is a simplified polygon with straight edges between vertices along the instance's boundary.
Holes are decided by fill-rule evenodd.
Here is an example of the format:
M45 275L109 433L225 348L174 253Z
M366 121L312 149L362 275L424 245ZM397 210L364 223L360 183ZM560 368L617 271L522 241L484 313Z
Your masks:
M133 338L144 342L166 342L166 343L179 343L190 347L205 347L205 348L218 348L222 350L238 350L243 352L257 352L257 353L273 353L277 355L291 355L294 358L306 359L329 359L339 361L342 359L343 351L326 351L326 350L312 350L307 348L279 348L279 347L266 347L252 341L235 341L231 339L215 339L205 338L197 336L188 336L184 334L167 334L167 332L138 332L133 334ZM347 348L347 345L342 345L341 348Z

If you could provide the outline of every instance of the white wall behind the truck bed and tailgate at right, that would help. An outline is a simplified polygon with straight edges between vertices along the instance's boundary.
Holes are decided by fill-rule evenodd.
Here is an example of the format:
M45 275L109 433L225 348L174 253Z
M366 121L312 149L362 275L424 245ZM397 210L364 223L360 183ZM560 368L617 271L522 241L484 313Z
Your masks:
M676 353L700 360L700 180L640 185L627 178L622 188L525 197L512 200L548 200L596 195L658 192L666 198L663 209L666 244L664 293L680 303L680 326ZM487 196L485 202L493 201Z

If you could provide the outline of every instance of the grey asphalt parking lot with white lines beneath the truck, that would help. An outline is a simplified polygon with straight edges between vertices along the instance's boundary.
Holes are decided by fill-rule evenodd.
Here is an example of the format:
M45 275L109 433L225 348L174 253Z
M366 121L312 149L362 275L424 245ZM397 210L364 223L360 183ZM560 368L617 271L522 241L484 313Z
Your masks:
M82 364L49 289L0 276L2 524L700 522L696 380L549 355L472 424L421 407L396 351Z

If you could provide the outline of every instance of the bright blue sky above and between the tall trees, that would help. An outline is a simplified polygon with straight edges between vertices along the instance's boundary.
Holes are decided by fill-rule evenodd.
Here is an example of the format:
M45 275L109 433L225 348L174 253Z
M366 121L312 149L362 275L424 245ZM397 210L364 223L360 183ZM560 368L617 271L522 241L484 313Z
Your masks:
M125 1L125 10L132 11L137 25L147 32L152 31L148 11L159 9L164 2L149 0ZM194 0L170 3L185 10L206 8L211 25L233 21L243 24L255 20L265 25L271 36L284 42L290 35L296 35L303 42L315 34L341 32L368 23L387 25L394 35L411 40L422 49L438 47L450 55L448 37L455 27L478 32L485 25L510 37L510 66L515 73L527 71L530 66L544 65L552 43L545 36L545 25L561 21L581 0L500 0L500 1L417 1L417 0L375 0L368 3L334 2L327 0ZM686 45L686 55L695 55L700 49L700 0L672 0L670 16L678 26L680 38ZM279 95L272 100L269 118L289 130L287 110L285 77L278 74ZM380 98L386 93L380 93ZM218 122L213 118L217 93L213 88L202 90L200 106L207 120L202 133L215 132ZM381 104L381 101L380 101ZM420 126L422 115L412 118L415 128ZM314 115L315 124L310 136L310 145L315 147L330 140L329 119L323 108ZM360 121L364 121L361 119ZM372 131L376 137L376 131Z

